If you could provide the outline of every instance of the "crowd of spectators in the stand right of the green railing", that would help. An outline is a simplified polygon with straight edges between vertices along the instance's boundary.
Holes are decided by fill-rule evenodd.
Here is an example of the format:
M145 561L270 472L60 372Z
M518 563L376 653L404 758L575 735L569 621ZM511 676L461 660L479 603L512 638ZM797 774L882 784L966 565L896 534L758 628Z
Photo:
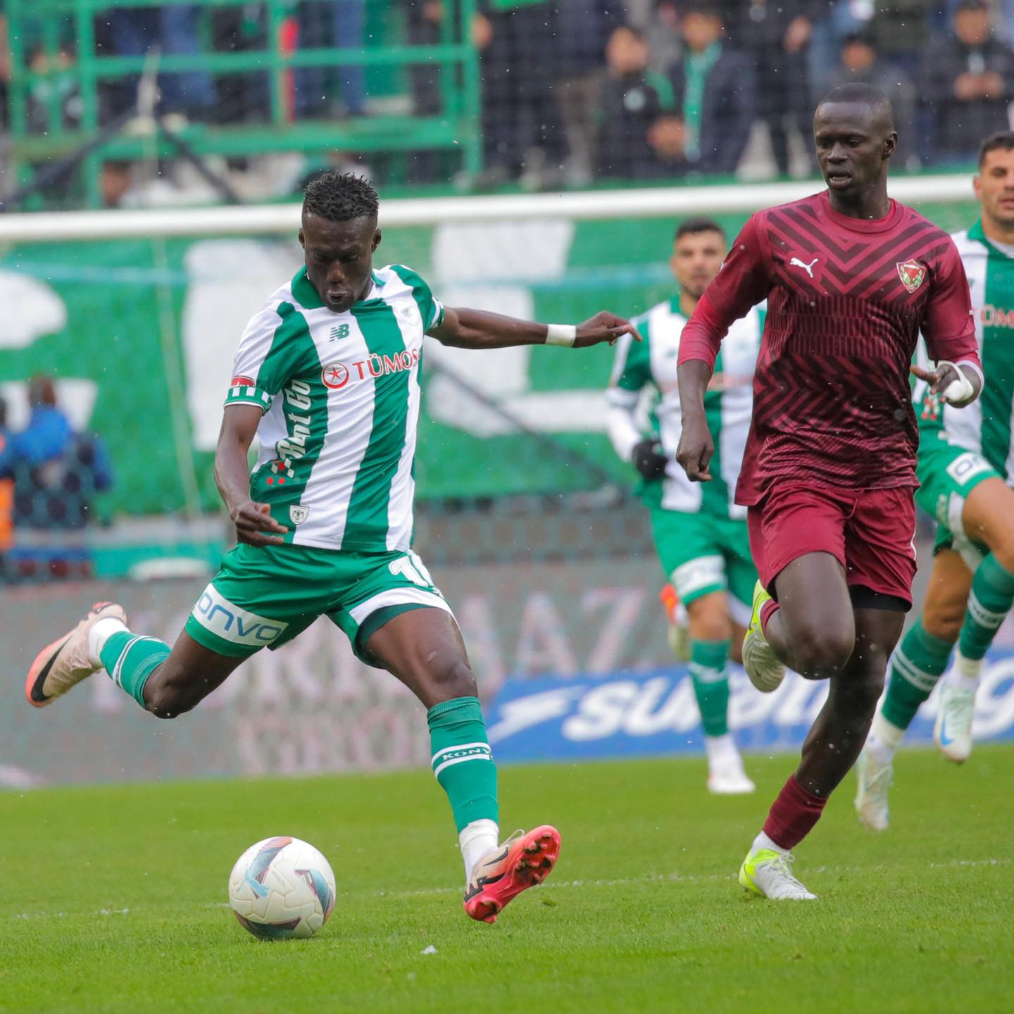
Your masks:
M813 107L847 81L892 99L902 165L957 164L1014 97L1012 0L555 0L482 21L486 162L511 175L728 174L755 124L773 169L812 168Z

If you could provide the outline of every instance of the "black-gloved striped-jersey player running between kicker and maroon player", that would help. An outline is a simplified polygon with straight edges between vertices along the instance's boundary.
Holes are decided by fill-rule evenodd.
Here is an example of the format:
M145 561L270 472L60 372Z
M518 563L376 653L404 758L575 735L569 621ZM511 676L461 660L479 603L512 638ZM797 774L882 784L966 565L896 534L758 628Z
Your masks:
M732 325L705 394L718 447L715 481L692 483L675 458L681 430L679 338L725 251L725 233L717 222L691 218L679 225L669 261L679 294L633 321L643 341L634 342L630 335L620 340L606 400L612 446L642 477L641 495L651 511L662 570L689 614L690 669L708 751L708 789L734 794L754 788L729 732L727 667L730 646L742 639L749 621L746 603L756 580L746 509L733 502L732 494L750 427L762 309L751 309ZM647 435L638 419L646 389L654 396Z

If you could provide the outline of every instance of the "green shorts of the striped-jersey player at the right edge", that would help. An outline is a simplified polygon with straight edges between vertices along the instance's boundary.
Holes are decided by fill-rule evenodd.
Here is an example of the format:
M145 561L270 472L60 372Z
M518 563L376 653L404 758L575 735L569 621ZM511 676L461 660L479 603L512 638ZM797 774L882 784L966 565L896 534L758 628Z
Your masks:
M916 490L916 503L937 520L934 555L953 549L969 565L976 563L975 558L990 551L965 533L964 502L980 483L1003 477L981 454L936 436L927 437L920 445L917 475L921 485Z

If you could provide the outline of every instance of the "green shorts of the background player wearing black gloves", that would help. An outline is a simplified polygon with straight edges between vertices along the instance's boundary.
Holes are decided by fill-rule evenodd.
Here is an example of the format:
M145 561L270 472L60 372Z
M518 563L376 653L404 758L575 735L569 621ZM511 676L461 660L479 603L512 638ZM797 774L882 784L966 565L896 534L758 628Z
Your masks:
M745 518L653 507L651 527L662 570L684 605L713 591L728 591L733 620L749 621L757 572Z

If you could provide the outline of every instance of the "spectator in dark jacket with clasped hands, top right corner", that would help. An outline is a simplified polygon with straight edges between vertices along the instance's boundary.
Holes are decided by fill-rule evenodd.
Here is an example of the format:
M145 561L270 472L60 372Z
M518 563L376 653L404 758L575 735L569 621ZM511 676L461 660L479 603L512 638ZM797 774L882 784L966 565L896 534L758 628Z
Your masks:
M961 0L951 19L954 35L926 54L920 89L931 120L938 162L975 157L988 134L1007 130L1014 93L1014 52L993 34L986 0Z

